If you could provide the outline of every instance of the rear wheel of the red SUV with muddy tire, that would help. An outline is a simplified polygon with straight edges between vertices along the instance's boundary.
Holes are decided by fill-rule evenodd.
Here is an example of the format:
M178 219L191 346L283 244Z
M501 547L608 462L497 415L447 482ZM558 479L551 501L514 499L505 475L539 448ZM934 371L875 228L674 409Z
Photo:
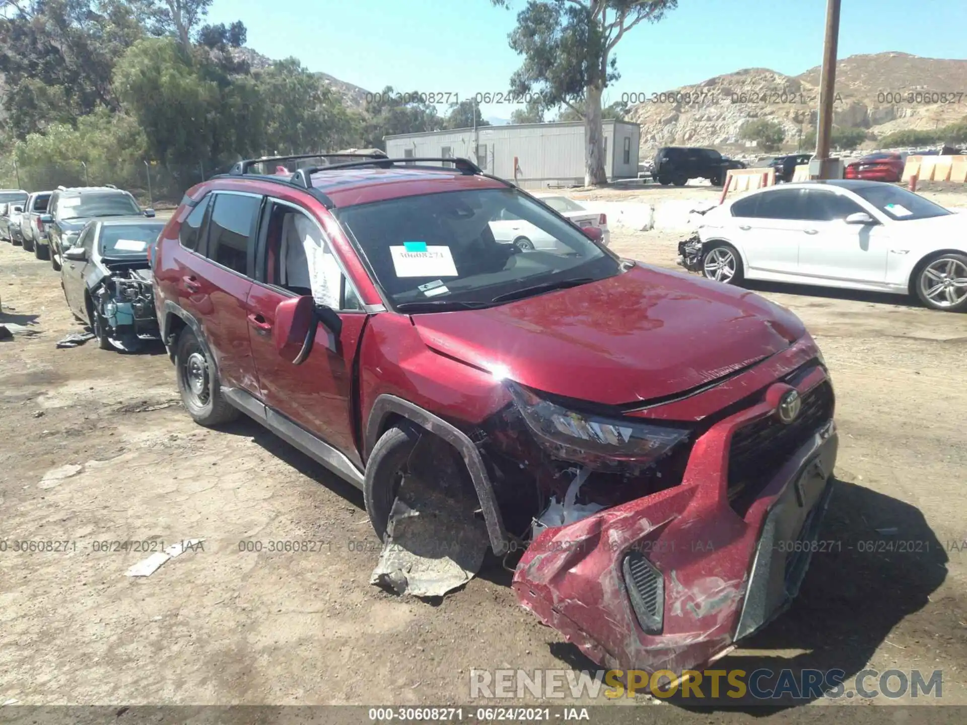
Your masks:
M221 394L219 373L198 338L185 328L175 347L178 391L191 420L211 427L239 417L239 411Z

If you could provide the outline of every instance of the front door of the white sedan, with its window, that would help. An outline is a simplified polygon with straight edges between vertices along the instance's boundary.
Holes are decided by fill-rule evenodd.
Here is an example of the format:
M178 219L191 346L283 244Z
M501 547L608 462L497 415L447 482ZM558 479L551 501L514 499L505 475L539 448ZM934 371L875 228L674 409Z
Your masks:
M812 188L803 189L803 194L808 221L799 243L799 273L844 281L886 281L889 233L883 224L847 224L849 215L869 212L843 194Z

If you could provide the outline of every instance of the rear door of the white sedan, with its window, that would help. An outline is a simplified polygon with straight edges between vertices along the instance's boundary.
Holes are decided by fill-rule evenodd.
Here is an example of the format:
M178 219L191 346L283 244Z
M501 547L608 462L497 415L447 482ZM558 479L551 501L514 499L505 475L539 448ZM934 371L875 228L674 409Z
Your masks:
M798 188L771 188L732 205L750 276L796 274L803 235L801 202Z

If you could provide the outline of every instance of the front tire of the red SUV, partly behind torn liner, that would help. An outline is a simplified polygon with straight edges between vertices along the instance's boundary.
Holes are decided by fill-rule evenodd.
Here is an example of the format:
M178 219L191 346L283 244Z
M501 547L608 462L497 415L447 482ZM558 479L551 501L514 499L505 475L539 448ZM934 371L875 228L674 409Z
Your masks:
M400 423L387 430L372 449L366 461L363 499L372 528L380 541L386 540L390 510L405 475L406 462L420 440L420 430Z

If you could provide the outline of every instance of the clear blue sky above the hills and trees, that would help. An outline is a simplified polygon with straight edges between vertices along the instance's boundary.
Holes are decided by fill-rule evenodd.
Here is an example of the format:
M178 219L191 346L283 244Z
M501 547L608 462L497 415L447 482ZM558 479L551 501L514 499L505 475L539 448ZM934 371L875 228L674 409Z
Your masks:
M507 43L516 12L489 0L215 0L210 22L241 19L249 46L294 55L368 91L392 85L459 94L506 91L519 59ZM843 0L839 57L897 50L967 58L965 0ZM621 79L605 101L653 93L743 68L796 75L822 62L825 0L680 0L617 48ZM967 89L950 89L964 90ZM509 118L513 105L483 105Z

